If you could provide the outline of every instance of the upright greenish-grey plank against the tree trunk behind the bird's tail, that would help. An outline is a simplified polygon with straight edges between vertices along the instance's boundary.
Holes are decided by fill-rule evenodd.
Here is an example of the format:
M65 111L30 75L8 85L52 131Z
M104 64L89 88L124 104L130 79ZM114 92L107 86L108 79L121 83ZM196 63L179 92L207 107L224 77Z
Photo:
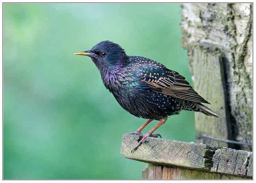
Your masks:
M198 134L207 134L219 139L230 139L230 120L227 114L226 93L223 88L223 63L220 50L210 44L201 43L193 50L194 90L211 104L204 104L216 112L219 118L195 113L195 128ZM206 92L207 91L207 92ZM231 139L232 140L232 139ZM229 147L227 143L206 138L197 138L196 143L211 144L217 147Z

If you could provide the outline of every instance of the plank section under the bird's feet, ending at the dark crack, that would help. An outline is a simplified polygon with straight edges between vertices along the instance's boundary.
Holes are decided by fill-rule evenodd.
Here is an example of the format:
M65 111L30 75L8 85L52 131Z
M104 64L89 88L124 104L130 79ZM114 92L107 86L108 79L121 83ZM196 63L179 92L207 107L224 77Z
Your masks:
M216 147L212 145L150 137L147 143L131 153L139 138L139 135L123 135L121 154L125 158L156 165L172 165L205 171L210 171L213 166L212 156Z

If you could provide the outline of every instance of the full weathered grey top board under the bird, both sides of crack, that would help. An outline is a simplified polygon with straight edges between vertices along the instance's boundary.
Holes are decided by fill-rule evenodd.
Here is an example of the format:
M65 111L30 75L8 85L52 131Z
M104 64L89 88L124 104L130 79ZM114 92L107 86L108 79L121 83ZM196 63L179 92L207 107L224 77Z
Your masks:
M139 135L124 134L121 154L125 158L149 164L197 170L202 174L210 172L208 175L211 176L219 173L225 176L252 177L252 152L151 137L131 152L139 140Z

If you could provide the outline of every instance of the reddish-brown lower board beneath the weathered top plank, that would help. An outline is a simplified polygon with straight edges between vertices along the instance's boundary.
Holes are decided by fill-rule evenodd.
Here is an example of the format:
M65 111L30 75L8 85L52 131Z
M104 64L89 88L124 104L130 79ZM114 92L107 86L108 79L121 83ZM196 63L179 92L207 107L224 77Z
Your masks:
M170 166L146 165L141 179L252 179L249 177L181 169Z

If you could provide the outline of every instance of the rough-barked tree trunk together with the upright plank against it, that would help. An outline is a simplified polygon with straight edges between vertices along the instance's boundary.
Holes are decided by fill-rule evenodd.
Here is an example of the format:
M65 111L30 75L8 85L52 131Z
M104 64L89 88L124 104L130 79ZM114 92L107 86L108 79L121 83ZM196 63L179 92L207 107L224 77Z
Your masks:
M197 143L252 151L252 4L182 4L182 47L194 89L219 118L195 115Z

